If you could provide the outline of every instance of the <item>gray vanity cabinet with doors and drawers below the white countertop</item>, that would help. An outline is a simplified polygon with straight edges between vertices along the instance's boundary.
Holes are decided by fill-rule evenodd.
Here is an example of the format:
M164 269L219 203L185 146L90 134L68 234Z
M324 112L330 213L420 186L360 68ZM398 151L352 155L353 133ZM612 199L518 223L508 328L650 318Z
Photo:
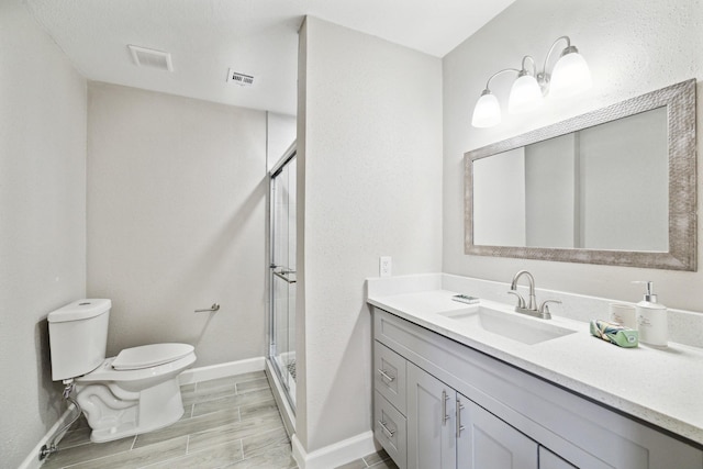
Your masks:
M401 469L703 469L703 451L373 309L373 432Z

